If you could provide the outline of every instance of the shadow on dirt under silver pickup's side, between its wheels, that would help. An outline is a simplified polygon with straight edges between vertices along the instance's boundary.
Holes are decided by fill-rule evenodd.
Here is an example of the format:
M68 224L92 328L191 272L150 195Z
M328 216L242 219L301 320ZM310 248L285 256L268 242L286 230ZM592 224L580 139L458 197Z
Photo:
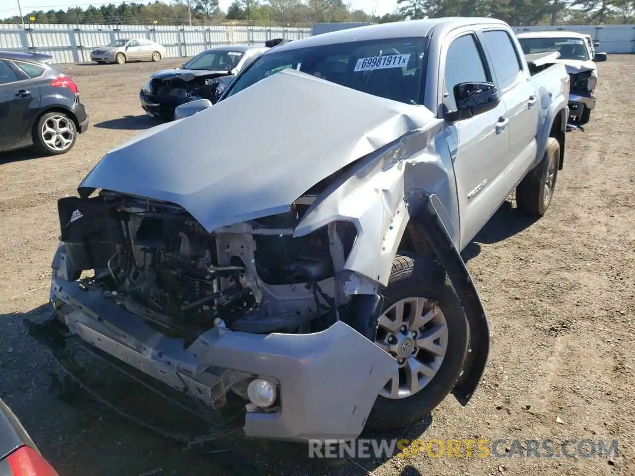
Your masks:
M481 253L481 243L493 244L504 241L531 227L538 219L536 216L527 215L518 208L514 208L511 201L505 201L462 251L463 260L467 263L472 258L476 258Z

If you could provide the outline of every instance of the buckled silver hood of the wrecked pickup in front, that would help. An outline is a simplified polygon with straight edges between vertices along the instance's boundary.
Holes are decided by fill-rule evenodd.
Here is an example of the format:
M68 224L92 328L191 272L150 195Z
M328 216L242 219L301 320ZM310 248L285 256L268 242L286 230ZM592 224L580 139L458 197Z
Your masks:
M284 70L111 150L78 190L172 202L211 232L288 211L312 185L431 121L423 106Z

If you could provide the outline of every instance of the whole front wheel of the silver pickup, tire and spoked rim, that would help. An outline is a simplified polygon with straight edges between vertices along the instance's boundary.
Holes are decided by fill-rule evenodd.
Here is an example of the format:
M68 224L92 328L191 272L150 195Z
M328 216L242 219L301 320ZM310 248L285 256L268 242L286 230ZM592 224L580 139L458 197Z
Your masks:
M393 430L421 420L460 377L469 343L465 311L436 261L397 256L375 344L397 360L379 393L368 428Z

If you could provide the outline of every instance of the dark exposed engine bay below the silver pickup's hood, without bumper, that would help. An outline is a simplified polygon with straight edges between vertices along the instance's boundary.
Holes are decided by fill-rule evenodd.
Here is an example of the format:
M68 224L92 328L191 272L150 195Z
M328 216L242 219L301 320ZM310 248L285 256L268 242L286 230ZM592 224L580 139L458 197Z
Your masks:
M308 333L333 324L346 303L331 253L337 243L346 255L356 233L338 222L294 238L310 200L215 234L178 206L113 192L67 197L58 209L72 267L95 271L83 286L163 332Z

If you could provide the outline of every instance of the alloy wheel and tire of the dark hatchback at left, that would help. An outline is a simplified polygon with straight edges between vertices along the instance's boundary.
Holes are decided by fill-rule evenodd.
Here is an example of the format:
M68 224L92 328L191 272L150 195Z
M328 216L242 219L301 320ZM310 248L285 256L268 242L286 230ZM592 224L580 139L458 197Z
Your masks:
M33 144L47 155L65 154L75 145L75 122L64 112L46 112L33 127Z

